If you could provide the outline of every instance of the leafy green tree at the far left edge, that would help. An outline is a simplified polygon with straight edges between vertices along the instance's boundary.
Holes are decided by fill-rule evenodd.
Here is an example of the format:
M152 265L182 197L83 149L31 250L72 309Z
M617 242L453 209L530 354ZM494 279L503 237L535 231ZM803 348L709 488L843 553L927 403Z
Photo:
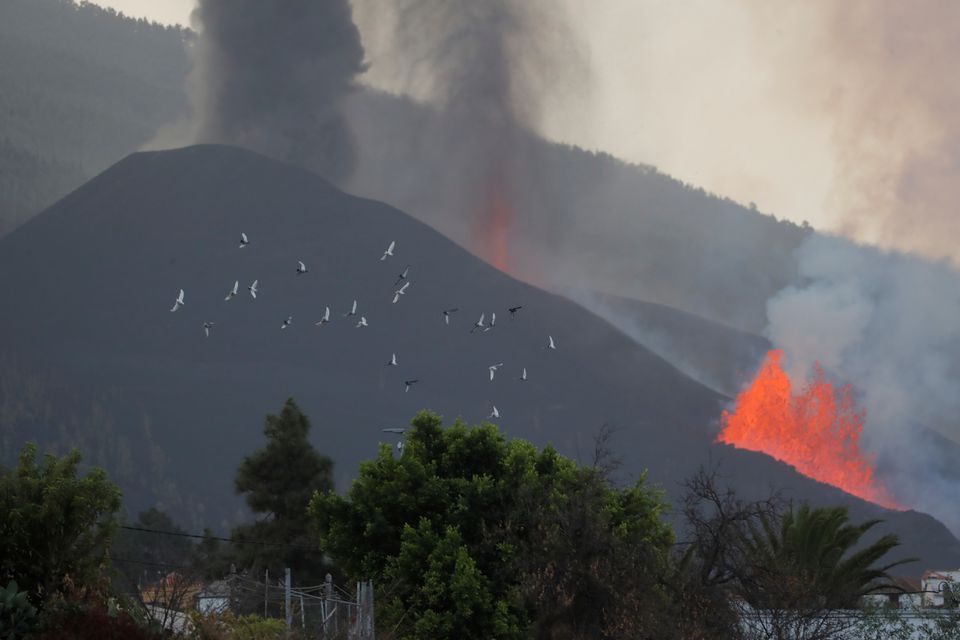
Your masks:
M36 457L29 443L0 472L0 582L16 580L42 606L68 585L102 584L120 490L102 469L80 476L79 451Z

